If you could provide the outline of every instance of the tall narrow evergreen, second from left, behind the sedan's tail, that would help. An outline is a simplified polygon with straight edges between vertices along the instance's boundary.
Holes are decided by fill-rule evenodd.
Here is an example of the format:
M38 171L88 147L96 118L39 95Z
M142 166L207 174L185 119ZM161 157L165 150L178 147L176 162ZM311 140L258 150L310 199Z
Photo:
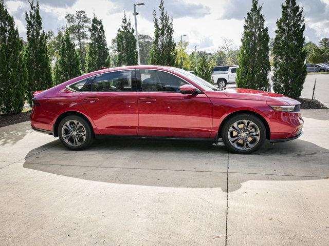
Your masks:
M39 2L30 2L29 14L25 12L27 22L27 46L25 64L27 67L27 97L31 103L32 93L46 90L52 86L50 57L47 47L47 37L42 31L42 20L39 12Z

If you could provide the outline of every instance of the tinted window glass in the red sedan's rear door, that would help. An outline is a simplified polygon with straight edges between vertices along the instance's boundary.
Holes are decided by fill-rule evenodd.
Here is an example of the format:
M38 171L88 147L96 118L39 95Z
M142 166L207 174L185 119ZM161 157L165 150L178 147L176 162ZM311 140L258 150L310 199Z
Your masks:
M92 91L131 91L132 71L116 71L99 74L92 83Z

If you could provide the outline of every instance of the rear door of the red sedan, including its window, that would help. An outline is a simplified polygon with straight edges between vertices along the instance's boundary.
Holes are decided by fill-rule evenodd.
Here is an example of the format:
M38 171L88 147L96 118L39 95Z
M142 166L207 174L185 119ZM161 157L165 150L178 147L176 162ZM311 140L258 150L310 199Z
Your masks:
M89 81L80 102L101 134L137 135L135 70L102 73Z

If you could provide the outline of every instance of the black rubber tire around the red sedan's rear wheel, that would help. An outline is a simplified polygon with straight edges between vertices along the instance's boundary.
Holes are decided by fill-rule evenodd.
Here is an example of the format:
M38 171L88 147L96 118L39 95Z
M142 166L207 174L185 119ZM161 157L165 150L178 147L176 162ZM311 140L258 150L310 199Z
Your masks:
M74 131L70 131L68 127L71 128L74 125L64 126L64 124L69 121L71 121L72 124L75 121L79 122L79 124L76 125L78 126L78 128L76 127L77 129L75 129ZM72 134L70 132L72 132ZM66 138L68 140L65 141L63 134L70 134L72 136ZM85 135L84 138L83 135ZM62 144L69 150L84 150L90 145L92 145L94 141L94 132L90 127L89 123L84 118L78 115L68 115L61 120L58 126L58 136L61 139ZM76 138L76 140L74 138ZM75 145L75 143L77 143L77 145Z

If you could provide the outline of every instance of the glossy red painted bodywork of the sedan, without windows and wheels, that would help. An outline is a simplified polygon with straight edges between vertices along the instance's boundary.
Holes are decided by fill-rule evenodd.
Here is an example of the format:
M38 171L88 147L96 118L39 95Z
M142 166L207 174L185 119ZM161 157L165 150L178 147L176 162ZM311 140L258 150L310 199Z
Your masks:
M152 91L72 92L66 86L100 73L118 70L152 69L166 71L188 81L200 94ZM300 112L278 112L269 105L298 105L289 97L250 89L210 91L180 73L160 66L129 66L102 69L70 79L46 91L34 93L41 106L33 106L33 129L53 132L63 113L84 115L95 135L139 135L215 138L221 124L232 113L249 111L267 123L270 140L296 136L303 126ZM57 126L57 125L56 125Z

